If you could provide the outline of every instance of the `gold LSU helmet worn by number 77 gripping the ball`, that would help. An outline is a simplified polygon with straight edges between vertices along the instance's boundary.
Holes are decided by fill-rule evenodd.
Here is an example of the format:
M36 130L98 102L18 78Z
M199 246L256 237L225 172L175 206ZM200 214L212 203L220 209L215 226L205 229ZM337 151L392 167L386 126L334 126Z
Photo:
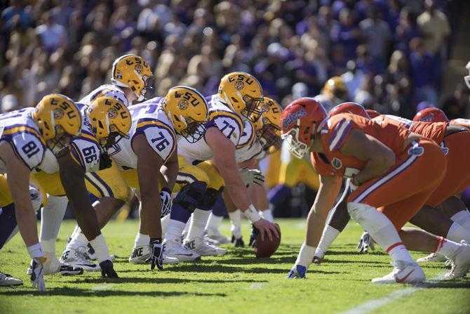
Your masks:
M231 72L220 80L219 96L231 110L251 122L260 119L259 108L263 100L263 89L253 75L245 72Z

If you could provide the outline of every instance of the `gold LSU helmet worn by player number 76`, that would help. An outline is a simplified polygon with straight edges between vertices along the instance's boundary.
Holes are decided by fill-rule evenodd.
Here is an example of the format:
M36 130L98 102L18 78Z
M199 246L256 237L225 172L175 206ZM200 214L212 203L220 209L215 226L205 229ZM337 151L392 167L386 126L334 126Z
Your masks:
M170 119L176 133L194 143L206 132L209 107L199 91L188 86L175 86L163 100L163 110Z

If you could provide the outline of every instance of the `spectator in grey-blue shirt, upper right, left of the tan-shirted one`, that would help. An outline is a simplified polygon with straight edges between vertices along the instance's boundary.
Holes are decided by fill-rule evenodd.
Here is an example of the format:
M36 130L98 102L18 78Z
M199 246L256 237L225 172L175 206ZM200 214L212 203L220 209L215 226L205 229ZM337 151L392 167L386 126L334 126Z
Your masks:
M369 9L368 18L361 21L359 27L369 55L375 60L380 72L382 72L386 65L391 32L387 22L380 19L380 10L377 6L372 6Z

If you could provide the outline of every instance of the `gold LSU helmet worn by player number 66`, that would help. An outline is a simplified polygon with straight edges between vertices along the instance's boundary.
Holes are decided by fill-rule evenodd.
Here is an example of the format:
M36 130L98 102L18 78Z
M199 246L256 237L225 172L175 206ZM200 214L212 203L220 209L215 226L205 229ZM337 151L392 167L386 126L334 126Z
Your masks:
M101 147L114 155L121 150L119 140L129 138L128 133L132 125L130 112L126 105L112 97L96 98L88 107L91 129L100 142ZM114 148L112 152L109 152Z

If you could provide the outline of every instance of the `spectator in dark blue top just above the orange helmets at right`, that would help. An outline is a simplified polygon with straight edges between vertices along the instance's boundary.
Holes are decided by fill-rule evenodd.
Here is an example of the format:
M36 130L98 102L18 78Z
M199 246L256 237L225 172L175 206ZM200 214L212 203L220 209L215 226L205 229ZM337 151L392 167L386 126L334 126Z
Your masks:
M424 48L422 39L410 41L410 74L415 87L415 101L437 102L438 64L432 53Z

